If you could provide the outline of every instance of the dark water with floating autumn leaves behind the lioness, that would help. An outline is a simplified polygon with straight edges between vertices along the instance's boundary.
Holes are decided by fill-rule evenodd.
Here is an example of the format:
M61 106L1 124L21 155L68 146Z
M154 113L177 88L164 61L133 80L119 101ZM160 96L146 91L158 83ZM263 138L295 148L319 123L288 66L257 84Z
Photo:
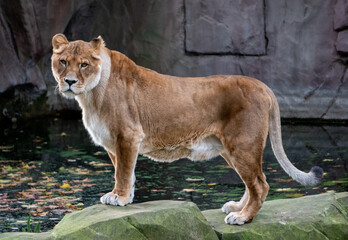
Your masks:
M45 118L1 125L0 231L21 231L28 215L47 231L68 212L99 203L113 188L113 167L105 151L93 146L81 120ZM348 190L348 127L282 128L284 148L301 170L321 166L318 187L303 187L281 169L267 143L263 169L271 186L267 200ZM204 162L158 163L139 157L135 203L172 199L201 210L238 200L244 185L222 158ZM33 224L35 226L35 223Z

